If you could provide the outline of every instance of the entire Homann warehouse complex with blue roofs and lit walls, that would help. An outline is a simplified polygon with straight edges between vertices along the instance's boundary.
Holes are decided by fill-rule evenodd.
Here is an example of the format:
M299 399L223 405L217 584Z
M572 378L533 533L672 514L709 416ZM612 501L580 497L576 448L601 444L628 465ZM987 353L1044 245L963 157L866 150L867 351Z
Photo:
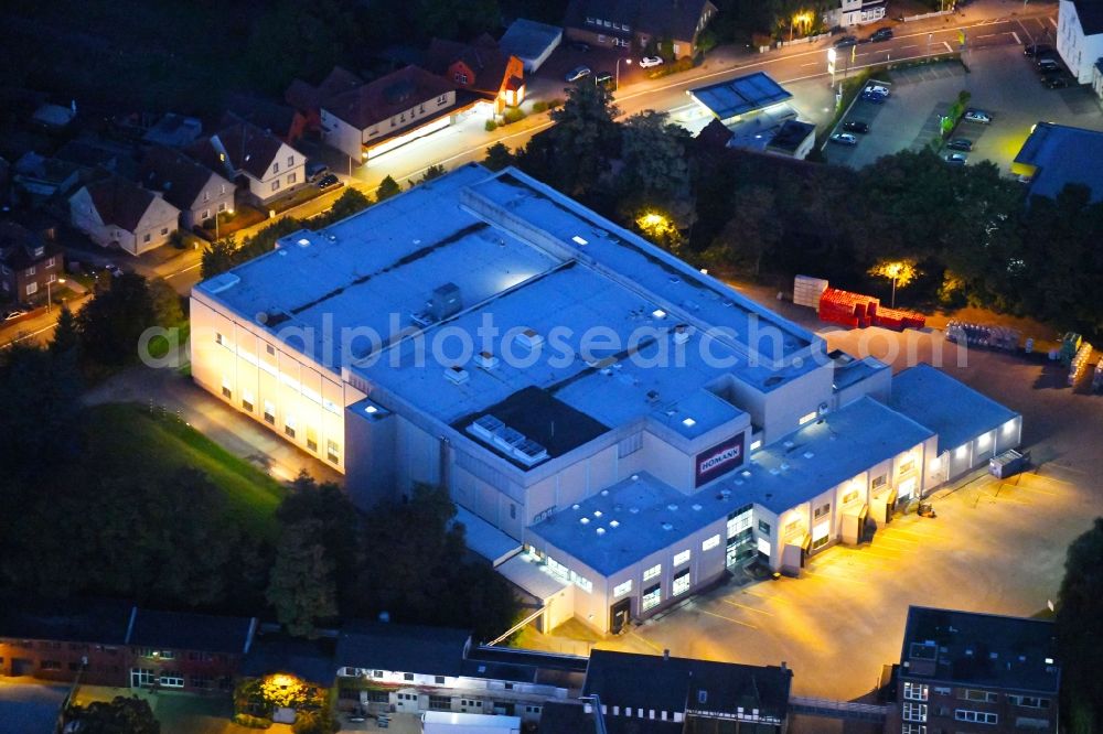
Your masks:
M191 315L196 382L362 506L446 486L543 628L618 630L730 568L799 569L1020 440L941 371L828 354L513 169L289 235L195 287Z

